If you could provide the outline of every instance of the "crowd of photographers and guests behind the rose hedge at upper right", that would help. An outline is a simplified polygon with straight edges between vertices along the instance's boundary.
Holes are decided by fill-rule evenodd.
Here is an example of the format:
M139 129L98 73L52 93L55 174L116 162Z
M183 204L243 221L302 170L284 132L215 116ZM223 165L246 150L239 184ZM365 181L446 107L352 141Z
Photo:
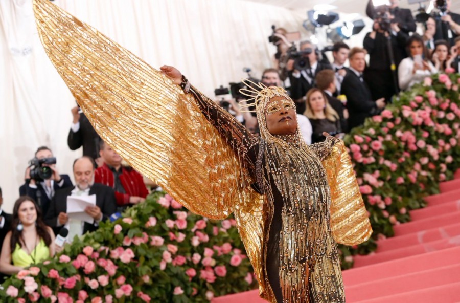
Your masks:
M411 11L400 8L398 0L389 2L374 7L369 1L366 12L374 23L363 47L336 42L332 63L312 41L301 41L297 51L285 29L274 31L278 52L274 69L263 72L262 82L284 84L307 144L323 141L323 132L341 138L427 76L458 72L460 15L450 11L451 0L439 13L427 15L420 34ZM244 119L250 129L257 129L255 122Z

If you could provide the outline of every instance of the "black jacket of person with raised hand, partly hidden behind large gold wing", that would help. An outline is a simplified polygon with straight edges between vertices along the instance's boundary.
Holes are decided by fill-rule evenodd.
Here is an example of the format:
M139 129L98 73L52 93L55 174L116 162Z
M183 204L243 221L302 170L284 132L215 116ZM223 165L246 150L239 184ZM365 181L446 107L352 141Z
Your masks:
M67 145L72 150L83 146L83 156L96 159L99 158L99 140L101 139L88 118L80 114L80 128L76 133L72 129L68 132Z

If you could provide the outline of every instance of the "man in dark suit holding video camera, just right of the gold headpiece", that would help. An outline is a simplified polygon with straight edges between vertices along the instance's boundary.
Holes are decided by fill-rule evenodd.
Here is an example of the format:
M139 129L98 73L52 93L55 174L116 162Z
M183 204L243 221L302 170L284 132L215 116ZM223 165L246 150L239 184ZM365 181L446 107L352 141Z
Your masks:
M332 70L329 64L319 62L319 50L311 41L300 44L300 52L290 54L287 70L291 82L291 97L295 102L297 114L303 114L306 109L305 95L315 86L316 73L322 70Z

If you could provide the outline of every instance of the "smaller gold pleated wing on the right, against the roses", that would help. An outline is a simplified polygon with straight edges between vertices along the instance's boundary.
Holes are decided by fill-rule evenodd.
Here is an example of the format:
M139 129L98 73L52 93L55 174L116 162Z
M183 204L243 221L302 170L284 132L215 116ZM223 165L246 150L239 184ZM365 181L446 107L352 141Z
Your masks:
M334 240L346 245L367 241L372 227L347 148L342 141L334 144L332 154L323 161L331 187L331 229Z

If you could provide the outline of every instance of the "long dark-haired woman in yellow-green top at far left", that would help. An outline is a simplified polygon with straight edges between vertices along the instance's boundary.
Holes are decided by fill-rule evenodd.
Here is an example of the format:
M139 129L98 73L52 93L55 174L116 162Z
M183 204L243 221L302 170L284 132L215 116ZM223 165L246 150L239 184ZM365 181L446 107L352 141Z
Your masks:
M20 197L14 203L11 231L3 242L0 271L17 274L54 253L54 233L43 223L40 208L32 198Z

